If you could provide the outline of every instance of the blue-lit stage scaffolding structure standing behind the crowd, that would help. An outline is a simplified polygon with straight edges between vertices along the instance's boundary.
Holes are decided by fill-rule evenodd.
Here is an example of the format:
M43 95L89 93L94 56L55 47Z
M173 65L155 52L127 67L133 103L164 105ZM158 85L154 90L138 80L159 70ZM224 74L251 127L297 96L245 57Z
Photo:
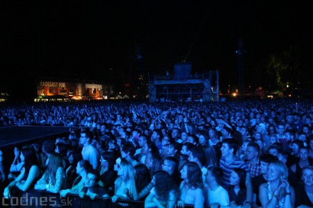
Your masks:
M218 70L201 74L149 76L149 101L219 101Z

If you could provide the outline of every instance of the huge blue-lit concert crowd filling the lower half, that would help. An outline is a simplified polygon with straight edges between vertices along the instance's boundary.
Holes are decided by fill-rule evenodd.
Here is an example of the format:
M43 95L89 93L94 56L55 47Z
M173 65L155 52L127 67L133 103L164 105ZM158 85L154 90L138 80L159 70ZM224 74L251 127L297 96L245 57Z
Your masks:
M313 207L313 105L291 99L1 106L0 125L70 127L17 147L3 191L145 207Z

